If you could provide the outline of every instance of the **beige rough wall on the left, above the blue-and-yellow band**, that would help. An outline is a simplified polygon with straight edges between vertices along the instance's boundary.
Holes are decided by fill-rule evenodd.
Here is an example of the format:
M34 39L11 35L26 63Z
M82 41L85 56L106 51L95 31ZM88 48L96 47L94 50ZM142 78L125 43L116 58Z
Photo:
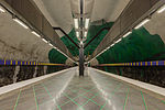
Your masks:
M30 30L20 26L9 13L0 13L0 58L48 62L52 47Z

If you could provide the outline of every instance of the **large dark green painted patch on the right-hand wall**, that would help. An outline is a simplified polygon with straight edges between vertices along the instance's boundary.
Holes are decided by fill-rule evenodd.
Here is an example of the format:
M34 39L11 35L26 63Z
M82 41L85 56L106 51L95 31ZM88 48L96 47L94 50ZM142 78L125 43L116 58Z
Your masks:
M100 64L158 61L165 58L165 44L160 35L141 28L97 57Z

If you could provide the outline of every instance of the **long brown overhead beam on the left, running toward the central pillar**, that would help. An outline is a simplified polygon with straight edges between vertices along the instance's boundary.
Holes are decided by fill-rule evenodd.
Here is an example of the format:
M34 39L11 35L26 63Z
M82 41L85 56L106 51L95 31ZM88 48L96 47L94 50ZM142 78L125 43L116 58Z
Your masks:
M10 11L13 15L16 15L25 24L28 24L30 29L42 33L43 37L50 41L65 56L76 62L57 33L54 31L53 26L32 0L1 0L0 3L8 8L8 11Z

